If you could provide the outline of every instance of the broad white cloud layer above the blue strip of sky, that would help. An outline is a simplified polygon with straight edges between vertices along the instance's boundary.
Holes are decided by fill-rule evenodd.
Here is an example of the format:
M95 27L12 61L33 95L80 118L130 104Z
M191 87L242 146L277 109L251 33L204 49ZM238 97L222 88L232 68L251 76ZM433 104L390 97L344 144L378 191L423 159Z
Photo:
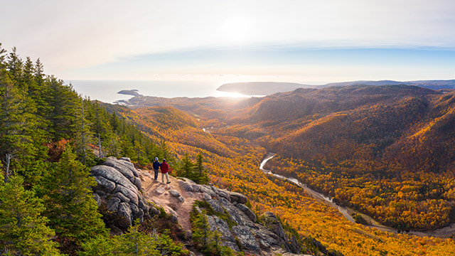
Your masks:
M0 28L4 46L41 58L46 72L58 76L101 65L109 75L108 67L131 64L132 56L195 48L455 45L455 2L443 0L0 0L0 6L0 21L8 24ZM247 26L240 29L240 21ZM187 63L178 55L161 60Z

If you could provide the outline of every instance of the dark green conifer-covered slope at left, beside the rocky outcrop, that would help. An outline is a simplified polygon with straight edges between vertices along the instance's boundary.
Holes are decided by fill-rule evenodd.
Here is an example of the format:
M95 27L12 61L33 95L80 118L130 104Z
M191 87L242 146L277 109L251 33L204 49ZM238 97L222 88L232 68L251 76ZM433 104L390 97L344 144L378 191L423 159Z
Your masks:
M1 44L0 104L0 255L92 255L93 243L106 255L132 255L138 248L186 253L168 236L151 238L138 226L113 238L105 228L109 216L100 214L92 196L96 182L87 166L105 156L146 165L166 154L165 144L157 146L117 116L126 108L82 98L45 75L39 59L23 60Z

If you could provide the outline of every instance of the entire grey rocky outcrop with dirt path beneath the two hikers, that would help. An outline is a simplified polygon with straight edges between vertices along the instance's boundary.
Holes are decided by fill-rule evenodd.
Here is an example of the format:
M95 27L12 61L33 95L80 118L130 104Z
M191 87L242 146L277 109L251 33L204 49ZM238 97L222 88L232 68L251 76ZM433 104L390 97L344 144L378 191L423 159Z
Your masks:
M110 227L114 233L121 233L134 220L161 215L164 210L166 218L183 227L185 239L191 240L190 212L193 203L199 200L205 202L200 206L205 208L210 230L220 235L223 246L245 255L296 256L308 252L294 235L287 234L273 213L264 213L258 218L245 205L247 197L241 193L199 185L187 178L171 177L171 184L160 183L152 179L148 171L135 169L127 158L109 157L102 165L93 166L91 174L97 181L93 191L98 206L114 215L115 221ZM144 193L142 183L146 187ZM198 206L194 209L203 213ZM317 240L307 242L317 248L318 253L334 255ZM188 245L191 246L191 242Z

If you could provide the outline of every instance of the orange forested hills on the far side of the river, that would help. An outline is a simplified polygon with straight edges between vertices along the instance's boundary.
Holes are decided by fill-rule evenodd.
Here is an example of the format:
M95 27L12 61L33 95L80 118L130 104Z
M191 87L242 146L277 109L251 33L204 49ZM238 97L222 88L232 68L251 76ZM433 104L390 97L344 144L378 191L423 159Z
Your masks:
M277 152L269 163L273 169L380 223L428 230L454 222L453 91L353 85L297 89L237 106L220 109L219 119L191 111L202 118L200 128L218 124L212 136L242 138ZM207 141L192 137L180 143L208 149Z

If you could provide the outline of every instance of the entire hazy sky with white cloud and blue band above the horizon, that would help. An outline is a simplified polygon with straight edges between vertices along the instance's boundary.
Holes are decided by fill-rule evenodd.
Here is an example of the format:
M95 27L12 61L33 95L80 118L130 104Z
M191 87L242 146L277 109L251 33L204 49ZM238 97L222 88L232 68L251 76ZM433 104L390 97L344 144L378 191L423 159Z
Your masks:
M0 22L64 80L455 76L453 0L0 0Z

